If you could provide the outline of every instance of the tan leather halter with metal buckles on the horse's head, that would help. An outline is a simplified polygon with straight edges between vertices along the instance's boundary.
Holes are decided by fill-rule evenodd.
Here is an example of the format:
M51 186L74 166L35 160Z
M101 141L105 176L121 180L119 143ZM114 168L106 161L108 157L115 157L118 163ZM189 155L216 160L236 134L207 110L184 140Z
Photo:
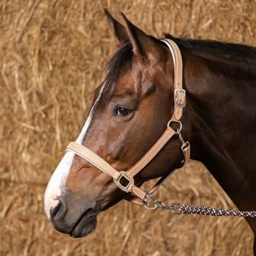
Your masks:
M181 117L183 108L186 104L186 91L182 88L183 67L181 52L177 44L174 43L174 41L170 39L162 39L161 41L167 44L168 48L171 50L171 55L174 60L174 113L172 114L171 120L168 122L167 129L158 139L158 141L155 142L152 148L149 149L148 152L146 152L146 155L144 155L139 160L139 162L136 162L136 164L133 165L129 170L117 171L103 158L101 158L85 146L78 144L77 142L70 142L66 149L84 158L92 165L103 171L105 174L113 178L114 183L117 184L117 187L119 187L121 190L125 191L126 193L131 193L133 194L133 196L139 197L131 197L131 199L129 199L130 201L133 201L133 203L139 204L148 203L150 200L149 196L151 196L155 192L155 190L158 189L158 187L166 180L166 178L168 178L170 174L166 174L165 176L163 176L149 192L145 192L139 187L136 187L133 177L139 171L145 168L145 166L152 160L152 158L155 157L155 155L162 149L162 147L165 146L165 144L168 142L169 139L171 139L171 137L173 137L175 134L178 134L179 138L181 139L181 150L184 153L183 165L190 158L190 144L189 142L184 142L184 139L181 136ZM180 124L180 129L177 132L171 128L171 122Z

